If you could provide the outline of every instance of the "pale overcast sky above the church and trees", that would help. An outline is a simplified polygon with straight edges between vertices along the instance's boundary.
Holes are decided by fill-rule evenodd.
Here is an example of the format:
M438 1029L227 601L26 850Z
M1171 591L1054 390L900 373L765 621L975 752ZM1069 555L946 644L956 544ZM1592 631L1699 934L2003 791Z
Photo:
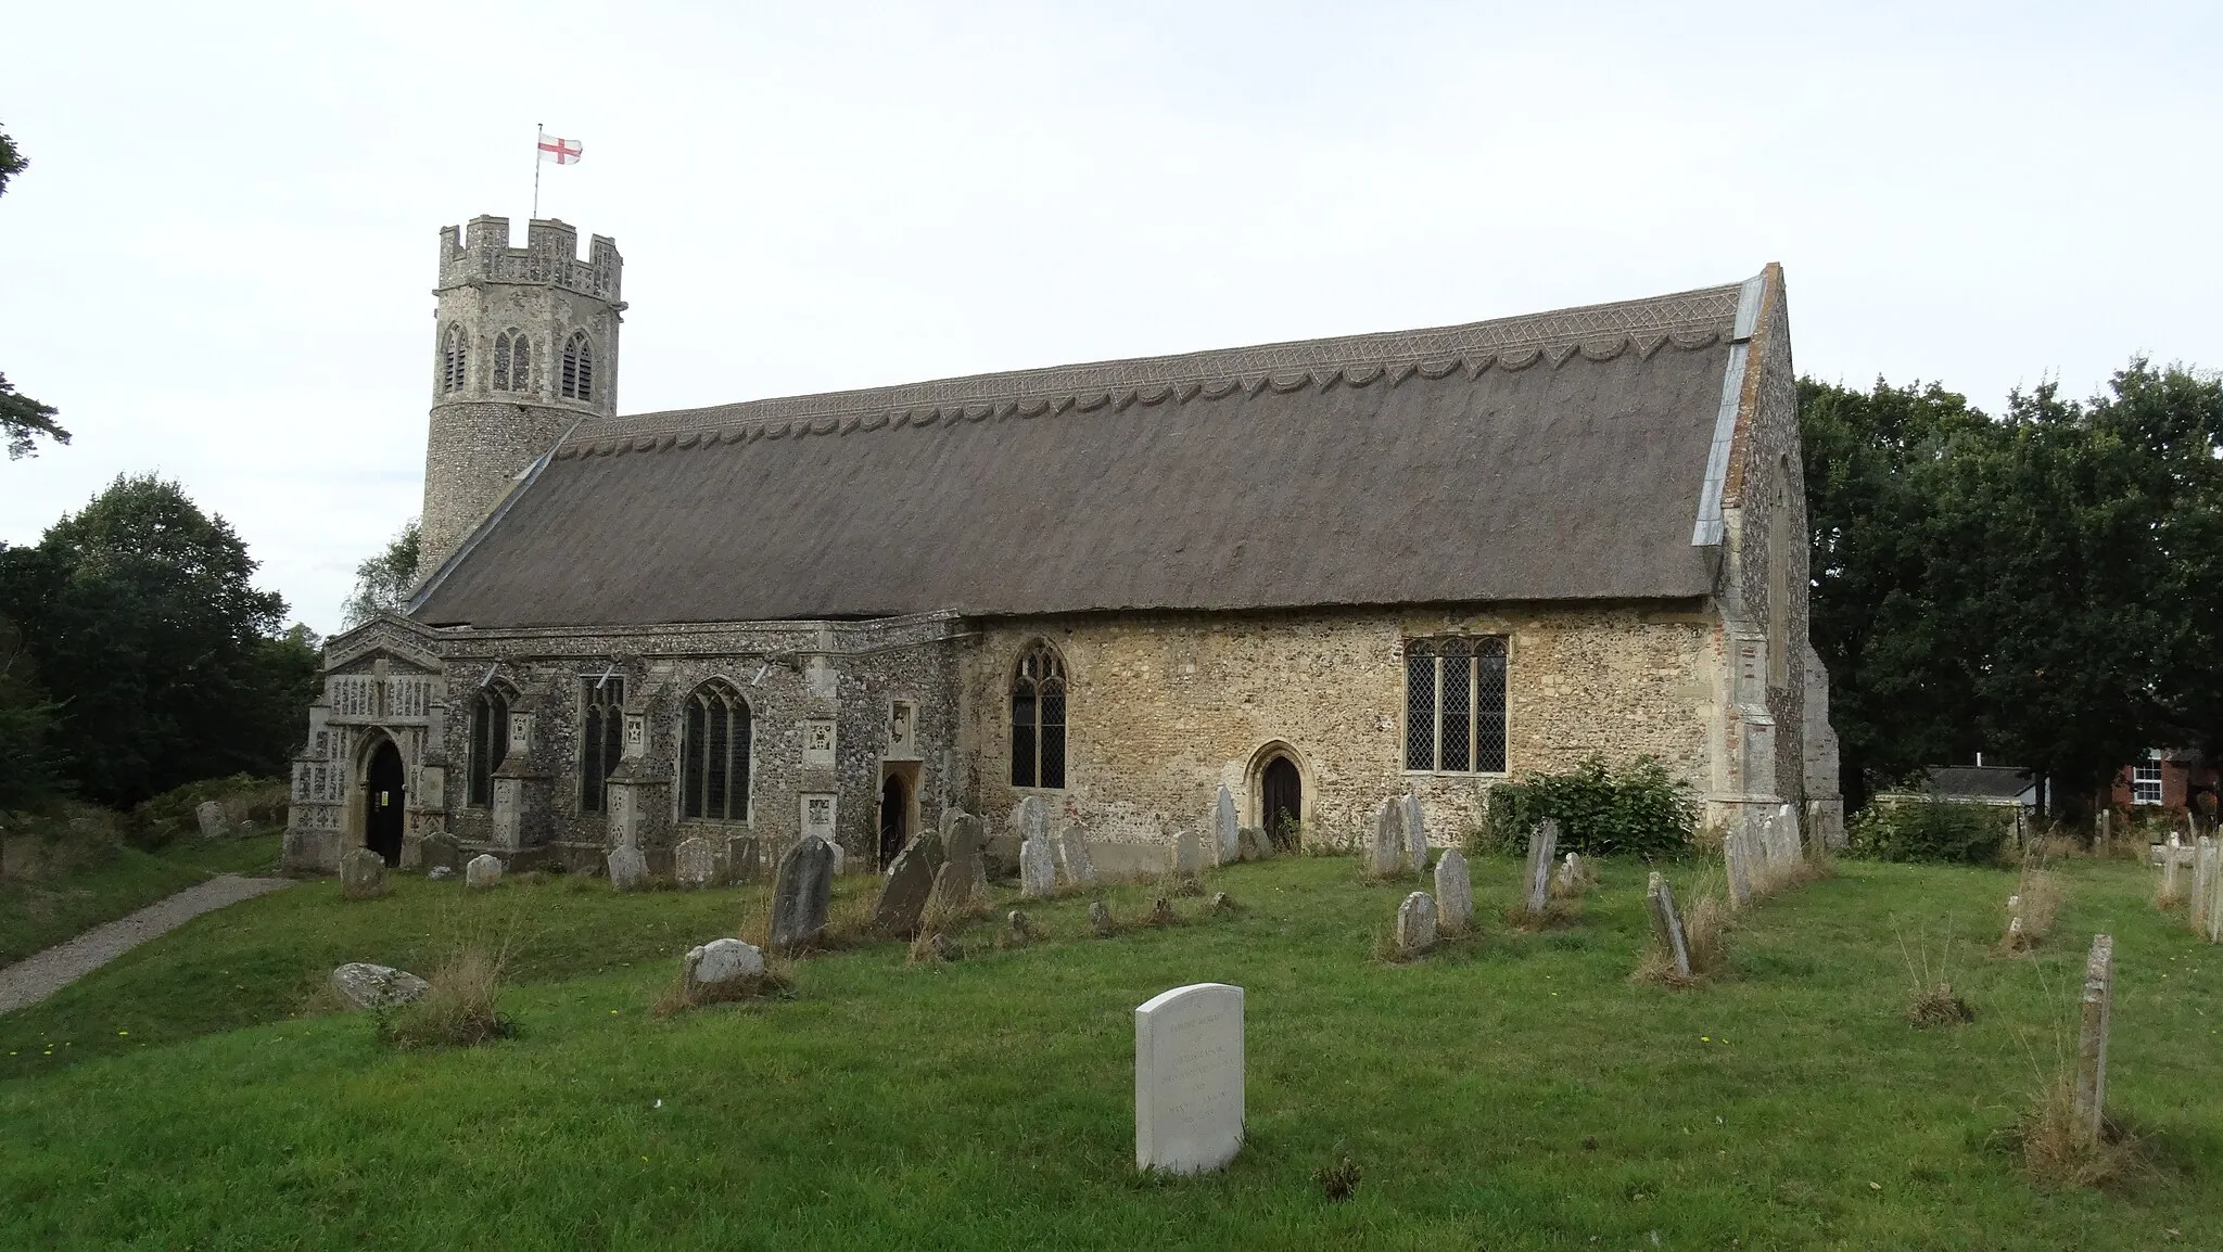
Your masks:
M0 371L318 632L418 511L438 229L625 254L618 409L1469 322L1783 262L1801 371L2223 367L2223 4L0 0Z

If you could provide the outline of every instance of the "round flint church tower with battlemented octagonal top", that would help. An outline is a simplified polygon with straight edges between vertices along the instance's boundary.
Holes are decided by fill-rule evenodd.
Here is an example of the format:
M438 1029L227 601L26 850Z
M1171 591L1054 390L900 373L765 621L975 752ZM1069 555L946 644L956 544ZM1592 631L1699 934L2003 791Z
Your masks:
M622 269L605 236L580 260L556 220L527 225L522 249L509 218L440 231L420 580L574 423L618 411Z

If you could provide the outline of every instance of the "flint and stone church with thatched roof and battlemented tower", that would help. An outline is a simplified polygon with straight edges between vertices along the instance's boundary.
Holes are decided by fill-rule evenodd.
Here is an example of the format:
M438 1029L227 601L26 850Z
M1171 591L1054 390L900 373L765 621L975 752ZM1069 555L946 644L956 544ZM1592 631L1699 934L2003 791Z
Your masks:
M618 411L622 260L440 233L420 583L333 636L285 858L885 865L1025 796L1138 865L1654 756L1838 843L1783 271L1492 318ZM1009 838L1009 836L1005 836Z

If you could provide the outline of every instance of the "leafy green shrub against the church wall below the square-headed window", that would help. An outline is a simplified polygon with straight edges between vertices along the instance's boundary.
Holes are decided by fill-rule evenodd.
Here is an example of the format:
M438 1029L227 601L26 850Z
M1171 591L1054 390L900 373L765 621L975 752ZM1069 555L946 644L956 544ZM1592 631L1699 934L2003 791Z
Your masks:
M1476 852L1525 852L1543 818L1558 823L1558 847L1583 856L1627 852L1672 856L1689 843L1689 783L1652 756L1607 769L1603 756L1567 774L1527 774L1489 787L1489 812L1469 843Z

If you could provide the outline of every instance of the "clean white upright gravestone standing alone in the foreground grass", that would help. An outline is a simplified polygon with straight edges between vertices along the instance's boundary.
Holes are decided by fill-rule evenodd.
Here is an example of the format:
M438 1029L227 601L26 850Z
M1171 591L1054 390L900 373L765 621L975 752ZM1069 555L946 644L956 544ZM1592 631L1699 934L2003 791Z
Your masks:
M1243 1147L1243 987L1194 983L1134 1010L1134 1165L1203 1174Z

